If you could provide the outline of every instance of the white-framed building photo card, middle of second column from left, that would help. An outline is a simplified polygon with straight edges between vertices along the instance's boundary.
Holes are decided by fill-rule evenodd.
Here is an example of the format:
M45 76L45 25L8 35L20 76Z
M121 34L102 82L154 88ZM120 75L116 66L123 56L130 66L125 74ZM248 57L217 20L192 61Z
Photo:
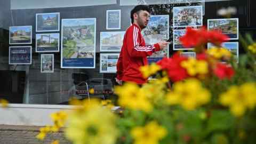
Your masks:
M36 34L36 52L59 52L60 34Z

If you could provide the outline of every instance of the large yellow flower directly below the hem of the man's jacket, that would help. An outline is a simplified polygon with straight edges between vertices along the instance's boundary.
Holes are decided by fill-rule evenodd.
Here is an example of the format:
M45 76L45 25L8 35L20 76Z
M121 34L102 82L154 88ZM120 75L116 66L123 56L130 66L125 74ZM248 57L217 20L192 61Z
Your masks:
M151 111L151 102L147 98L145 89L140 89L137 84L125 83L123 86L116 86L115 92L118 95L120 106L135 109Z

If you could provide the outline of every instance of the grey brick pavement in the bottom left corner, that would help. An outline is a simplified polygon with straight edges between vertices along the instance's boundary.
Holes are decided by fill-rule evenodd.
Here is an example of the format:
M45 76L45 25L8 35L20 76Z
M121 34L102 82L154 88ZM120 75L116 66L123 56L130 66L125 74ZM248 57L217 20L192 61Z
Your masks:
M40 126L0 125L0 144L48 144L59 140L60 144L71 144L63 131L47 134L44 141L36 138Z

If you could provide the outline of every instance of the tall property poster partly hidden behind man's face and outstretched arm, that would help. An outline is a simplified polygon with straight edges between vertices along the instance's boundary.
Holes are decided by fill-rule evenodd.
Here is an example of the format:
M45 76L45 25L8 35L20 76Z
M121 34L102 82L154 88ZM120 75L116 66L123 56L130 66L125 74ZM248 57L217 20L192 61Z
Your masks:
M152 45L169 38L169 15L151 15L148 26L142 30L146 45ZM169 57L169 46L148 57L148 63Z

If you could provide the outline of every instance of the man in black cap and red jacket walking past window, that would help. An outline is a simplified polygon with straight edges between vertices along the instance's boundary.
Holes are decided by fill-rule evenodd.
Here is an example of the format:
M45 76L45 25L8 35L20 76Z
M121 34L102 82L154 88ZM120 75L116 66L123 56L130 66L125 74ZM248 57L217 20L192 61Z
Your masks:
M131 11L132 26L127 28L123 46L117 61L116 82L134 82L139 85L147 82L139 70L148 64L147 57L166 47L167 42L161 41L154 45L145 45L141 30L146 28L150 18L150 11L146 5L137 5Z

